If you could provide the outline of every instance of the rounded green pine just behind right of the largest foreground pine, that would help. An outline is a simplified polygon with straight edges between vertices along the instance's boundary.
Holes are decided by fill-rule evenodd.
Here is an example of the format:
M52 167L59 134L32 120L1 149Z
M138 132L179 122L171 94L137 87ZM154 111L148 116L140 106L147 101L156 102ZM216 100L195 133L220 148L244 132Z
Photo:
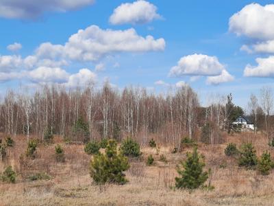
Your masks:
M139 157L140 145L131 138L125 139L121 144L121 152L127 157Z

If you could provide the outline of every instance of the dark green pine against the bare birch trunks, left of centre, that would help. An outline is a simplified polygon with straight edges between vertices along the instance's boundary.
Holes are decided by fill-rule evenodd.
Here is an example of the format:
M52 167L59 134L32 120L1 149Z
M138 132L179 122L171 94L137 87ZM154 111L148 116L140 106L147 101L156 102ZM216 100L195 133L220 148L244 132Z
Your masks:
M87 143L90 137L90 131L88 129L88 124L80 117L73 128L73 136L77 141L83 141Z

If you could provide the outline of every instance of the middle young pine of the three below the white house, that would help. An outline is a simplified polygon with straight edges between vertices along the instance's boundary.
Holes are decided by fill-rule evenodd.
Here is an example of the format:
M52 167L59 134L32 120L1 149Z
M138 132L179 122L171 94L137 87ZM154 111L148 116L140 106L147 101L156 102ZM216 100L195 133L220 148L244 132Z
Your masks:
M256 150L251 143L244 144L240 150L240 157L238 159L239 166L251 169L257 165Z

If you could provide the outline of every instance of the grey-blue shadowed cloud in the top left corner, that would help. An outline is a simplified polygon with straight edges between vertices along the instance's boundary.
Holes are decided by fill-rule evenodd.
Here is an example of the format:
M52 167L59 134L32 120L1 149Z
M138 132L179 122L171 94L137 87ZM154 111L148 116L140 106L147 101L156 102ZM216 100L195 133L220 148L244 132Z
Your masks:
M35 19L44 12L66 12L91 5L95 0L1 0L0 16L8 19Z

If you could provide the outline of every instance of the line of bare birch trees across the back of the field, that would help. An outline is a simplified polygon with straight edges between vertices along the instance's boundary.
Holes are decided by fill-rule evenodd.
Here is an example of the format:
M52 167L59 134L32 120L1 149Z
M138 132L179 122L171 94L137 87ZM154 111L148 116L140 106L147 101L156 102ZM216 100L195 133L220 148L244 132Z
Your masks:
M246 113L256 128L264 128L272 138L272 90L263 88L260 101L251 95L248 102ZM9 90L0 104L0 132L41 140L51 133L77 140L73 128L81 120L90 140L132 137L146 144L149 135L155 134L163 143L179 145L184 136L199 138L201 128L208 124L214 143L244 111L232 103L232 95L215 96L208 105L200 106L197 93L188 85L166 94L139 87L119 91L108 83L102 88L88 84L84 89L44 86L34 93Z

